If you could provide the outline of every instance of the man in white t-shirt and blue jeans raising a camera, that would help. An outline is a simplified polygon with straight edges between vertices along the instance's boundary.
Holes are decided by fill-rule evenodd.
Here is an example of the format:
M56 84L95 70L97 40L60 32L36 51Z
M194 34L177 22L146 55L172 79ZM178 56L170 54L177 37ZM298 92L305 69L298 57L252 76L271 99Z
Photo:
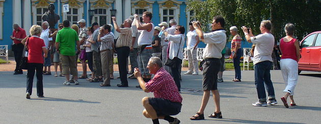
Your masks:
M263 20L260 25L262 34L254 36L252 30L243 26L242 30L248 42L256 45L254 49L253 64L255 70L255 86L258 96L258 102L253 106L274 105L278 102L275 99L274 87L271 81L270 69L272 66L272 52L274 47L274 36L271 34L272 23L270 20ZM265 86L268 91L269 101L266 102Z

